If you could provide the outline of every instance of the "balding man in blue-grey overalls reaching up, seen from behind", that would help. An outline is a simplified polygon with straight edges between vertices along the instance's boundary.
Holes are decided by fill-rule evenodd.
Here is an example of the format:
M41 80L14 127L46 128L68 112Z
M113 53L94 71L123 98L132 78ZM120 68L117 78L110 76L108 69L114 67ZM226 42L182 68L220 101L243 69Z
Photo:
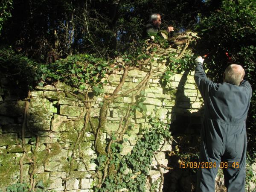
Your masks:
M224 72L224 82L207 79L203 69L204 59L195 59L195 83L204 99L204 121L201 129L199 162L215 163L216 168L199 168L197 192L215 192L218 166L223 169L227 192L245 191L245 161L247 135L245 120L250 106L252 88L244 81L244 69L232 64ZM235 165L235 166L234 166Z

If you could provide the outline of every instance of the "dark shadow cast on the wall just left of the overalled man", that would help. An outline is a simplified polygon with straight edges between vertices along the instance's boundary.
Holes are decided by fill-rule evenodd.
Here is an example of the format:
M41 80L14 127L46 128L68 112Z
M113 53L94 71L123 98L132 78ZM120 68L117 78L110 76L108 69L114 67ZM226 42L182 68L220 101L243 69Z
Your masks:
M193 91L185 93L188 75L189 70L185 70L177 86L175 106L172 107L172 113L176 115L169 129L174 139L173 149L166 156L168 167L173 169L164 174L163 192L193 192L195 190L196 169L182 168L181 163L198 162L203 109L200 108L196 112L190 111L197 96Z

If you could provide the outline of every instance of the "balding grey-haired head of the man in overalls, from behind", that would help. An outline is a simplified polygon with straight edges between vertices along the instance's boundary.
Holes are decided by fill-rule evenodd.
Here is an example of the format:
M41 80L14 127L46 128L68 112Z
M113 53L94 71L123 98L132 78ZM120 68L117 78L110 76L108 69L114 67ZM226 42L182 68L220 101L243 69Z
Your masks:
M244 69L241 65L231 64L225 70L225 80L224 82L240 85L241 81L244 79Z

